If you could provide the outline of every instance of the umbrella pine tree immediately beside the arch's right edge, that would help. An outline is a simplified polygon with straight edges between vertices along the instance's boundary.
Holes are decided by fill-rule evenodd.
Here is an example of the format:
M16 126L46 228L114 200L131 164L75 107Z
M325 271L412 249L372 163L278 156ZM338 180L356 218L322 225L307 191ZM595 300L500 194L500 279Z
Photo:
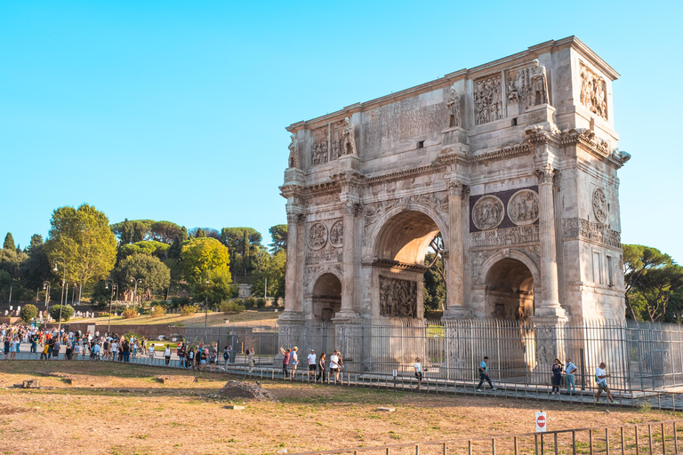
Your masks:
M639 310L643 310L642 304L644 300L638 300L640 305L636 306L635 294L642 288L642 280L645 275L654 269L670 266L672 262L671 256L656 248L636 244L623 244L624 299L626 309L633 320L638 321Z

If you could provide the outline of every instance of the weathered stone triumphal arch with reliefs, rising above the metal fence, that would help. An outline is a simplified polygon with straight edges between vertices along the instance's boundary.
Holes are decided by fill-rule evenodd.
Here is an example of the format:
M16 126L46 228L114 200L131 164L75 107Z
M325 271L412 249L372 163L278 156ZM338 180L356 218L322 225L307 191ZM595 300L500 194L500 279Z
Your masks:
M574 36L295 123L280 323L623 319L612 83Z

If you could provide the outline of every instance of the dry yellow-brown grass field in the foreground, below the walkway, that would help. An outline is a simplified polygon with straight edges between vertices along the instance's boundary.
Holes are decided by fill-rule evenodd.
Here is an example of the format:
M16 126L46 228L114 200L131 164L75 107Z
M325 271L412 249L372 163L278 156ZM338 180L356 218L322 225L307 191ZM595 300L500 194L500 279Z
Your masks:
M69 386L49 376L54 372L87 377L88 385ZM270 381L262 385L277 396L278 403L239 399L235 403L244 402L246 409L232 411L225 409L229 399L215 395L228 376L183 372L197 377L194 384L183 386L155 380L157 375L173 373L120 363L0 362L1 453L36 453L49 441L51 447L60 448L60 454L252 455L505 435L534 431L534 412L540 407L548 412L550 430L681 418L663 411L612 408L606 413L604 406ZM10 388L32 378L40 379L44 388ZM378 406L396 411L379 412ZM625 439L632 449L631 436ZM579 453L588 453L585 437ZM571 453L569 441L563 441L558 443L559 452ZM596 450L600 441L604 450L604 433L594 436ZM655 447L656 441L655 435ZM530 445L519 443L522 452L530 453ZM474 454L490 455L490 444L489 440L475 446ZM647 438L641 444L641 450L646 450ZM611 448L618 448L616 440ZM498 449L508 452L502 446ZM550 445L546 451L552 451Z

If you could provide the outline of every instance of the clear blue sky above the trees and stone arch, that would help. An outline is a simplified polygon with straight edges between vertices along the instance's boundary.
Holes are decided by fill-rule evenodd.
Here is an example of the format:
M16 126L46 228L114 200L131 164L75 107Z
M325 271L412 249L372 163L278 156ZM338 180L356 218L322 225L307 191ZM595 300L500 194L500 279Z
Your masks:
M0 235L87 202L268 241L285 126L575 35L622 75L623 243L682 261L682 4L2 0Z

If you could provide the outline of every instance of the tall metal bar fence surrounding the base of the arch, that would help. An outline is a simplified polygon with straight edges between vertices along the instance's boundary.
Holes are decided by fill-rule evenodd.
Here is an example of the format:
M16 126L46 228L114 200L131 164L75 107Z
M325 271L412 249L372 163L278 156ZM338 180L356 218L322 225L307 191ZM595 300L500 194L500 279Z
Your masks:
M595 385L595 370L607 364L611 387L646 390L683 385L683 334L678 324L589 321L520 323L510 320L402 320L363 323L287 323L276 326L188 327L186 338L279 355L299 347L300 362L342 353L345 371L412 375L416 357L435 379L476 380L485 355L492 379L550 384L557 357L578 368L577 387Z

